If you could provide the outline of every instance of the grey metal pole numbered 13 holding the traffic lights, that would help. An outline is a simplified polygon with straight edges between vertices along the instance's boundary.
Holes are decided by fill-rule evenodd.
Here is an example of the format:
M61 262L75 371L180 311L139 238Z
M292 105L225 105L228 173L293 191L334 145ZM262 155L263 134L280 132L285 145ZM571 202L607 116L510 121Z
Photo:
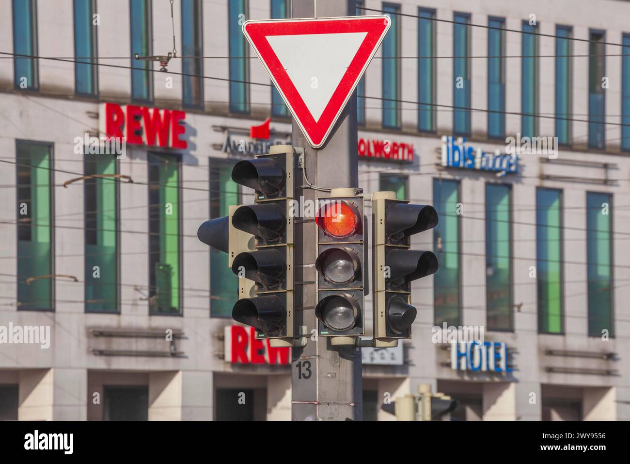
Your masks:
M292 18L354 16L355 0L292 0ZM312 76L316 78L317 76ZM333 128L328 143L315 150L293 122L293 145L304 150L309 181L319 187L358 187L357 97L353 95ZM316 201L314 189L299 188L295 199ZM320 192L321 196L328 193ZM317 227L314 218L295 218L295 326L306 326L306 347L292 349L292 420L362 420L361 351L352 345L333 346L318 336ZM367 263L365 263L367 266ZM315 330L314 332L312 332ZM313 336L311 336L313 334Z

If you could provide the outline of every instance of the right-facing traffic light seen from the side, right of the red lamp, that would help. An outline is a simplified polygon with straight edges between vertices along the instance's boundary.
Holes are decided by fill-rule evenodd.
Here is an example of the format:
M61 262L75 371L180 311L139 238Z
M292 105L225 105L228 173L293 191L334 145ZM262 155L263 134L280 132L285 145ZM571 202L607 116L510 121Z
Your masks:
M411 249L411 235L437 223L433 206L398 200L394 192L372 194L374 347L395 347L399 338L411 338L416 318L411 281L438 268L432 251Z

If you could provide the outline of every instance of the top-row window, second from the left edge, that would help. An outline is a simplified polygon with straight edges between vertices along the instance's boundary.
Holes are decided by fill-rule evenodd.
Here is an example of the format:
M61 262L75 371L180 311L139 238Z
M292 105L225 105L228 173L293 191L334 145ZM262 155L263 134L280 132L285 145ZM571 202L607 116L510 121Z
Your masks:
M95 12L96 0L74 0L74 92L79 95L98 94Z

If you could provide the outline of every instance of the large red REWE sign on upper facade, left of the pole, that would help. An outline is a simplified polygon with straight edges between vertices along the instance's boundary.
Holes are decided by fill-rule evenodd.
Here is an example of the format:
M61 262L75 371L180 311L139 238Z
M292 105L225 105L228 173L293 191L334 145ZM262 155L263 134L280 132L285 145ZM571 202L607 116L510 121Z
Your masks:
M99 113L99 129L104 136L124 137L129 145L188 147L188 142L181 140L186 132L185 111L104 103Z

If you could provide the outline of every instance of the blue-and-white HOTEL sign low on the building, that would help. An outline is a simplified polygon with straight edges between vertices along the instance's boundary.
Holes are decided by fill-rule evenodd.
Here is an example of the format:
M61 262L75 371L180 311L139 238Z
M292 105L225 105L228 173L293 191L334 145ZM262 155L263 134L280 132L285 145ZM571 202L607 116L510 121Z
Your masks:
M507 345L500 342L452 342L450 367L455 371L512 372Z

